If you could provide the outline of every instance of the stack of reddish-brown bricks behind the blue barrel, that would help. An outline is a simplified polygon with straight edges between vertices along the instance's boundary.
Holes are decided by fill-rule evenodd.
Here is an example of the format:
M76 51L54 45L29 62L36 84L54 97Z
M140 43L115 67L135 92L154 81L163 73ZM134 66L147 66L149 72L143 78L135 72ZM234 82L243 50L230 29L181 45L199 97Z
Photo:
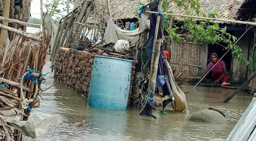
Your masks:
M67 87L82 93L83 96L88 97L95 55L98 54L89 53L88 51L79 51L73 48L60 48L58 55L55 57L55 79L61 81ZM129 100L131 98L131 88L136 62L133 62L132 65Z

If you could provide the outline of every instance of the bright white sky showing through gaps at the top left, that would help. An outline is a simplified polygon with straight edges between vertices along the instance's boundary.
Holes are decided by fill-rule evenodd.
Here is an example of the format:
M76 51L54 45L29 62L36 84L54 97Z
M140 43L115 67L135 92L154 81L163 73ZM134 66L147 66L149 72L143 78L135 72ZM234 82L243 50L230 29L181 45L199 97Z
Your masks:
M50 1L50 0L49 0L49 1ZM43 0L43 3L46 4L46 1ZM58 6L58 9L60 9L61 11L62 11L62 8L64 8L64 6L62 6L62 5L59 5L59 6ZM73 8L73 5L71 4L71 5L70 5L70 9L72 9L72 8ZM46 7L43 6L43 12L46 12L46 11L47 11ZM32 18L41 19L41 14L40 14L40 13L41 13L41 11L40 11L40 0L32 0L32 1L31 1L30 13L31 13L31 17L32 17ZM65 12L62 12L61 14L66 15L67 12L65 11ZM55 16L53 17L53 19L55 19L56 16L61 17L61 15L55 15Z

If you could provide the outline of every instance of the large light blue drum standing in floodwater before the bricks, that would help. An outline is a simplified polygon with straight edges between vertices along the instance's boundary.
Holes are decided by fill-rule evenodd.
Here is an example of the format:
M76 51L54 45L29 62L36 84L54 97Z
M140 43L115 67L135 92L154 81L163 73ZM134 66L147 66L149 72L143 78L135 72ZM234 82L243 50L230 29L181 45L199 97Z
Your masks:
M126 110L132 61L95 56L88 105L102 109Z

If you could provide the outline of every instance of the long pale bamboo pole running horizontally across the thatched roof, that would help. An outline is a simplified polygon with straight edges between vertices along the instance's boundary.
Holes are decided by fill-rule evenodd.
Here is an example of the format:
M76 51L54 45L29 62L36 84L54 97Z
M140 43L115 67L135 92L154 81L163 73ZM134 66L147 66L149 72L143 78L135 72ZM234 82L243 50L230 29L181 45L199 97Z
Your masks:
M145 12L158 14L158 12L154 12L154 11L145 11ZM161 14L170 15L170 16L177 16L177 17L186 17L186 18L195 18L195 19L204 19L204 20L221 21L221 22L228 22L228 23L256 25L256 23L253 23L253 22L244 22L244 21L240 21L240 20L227 20L227 19L208 18L208 17L199 17L199 16L189 16L189 15L171 14L171 13L161 13Z

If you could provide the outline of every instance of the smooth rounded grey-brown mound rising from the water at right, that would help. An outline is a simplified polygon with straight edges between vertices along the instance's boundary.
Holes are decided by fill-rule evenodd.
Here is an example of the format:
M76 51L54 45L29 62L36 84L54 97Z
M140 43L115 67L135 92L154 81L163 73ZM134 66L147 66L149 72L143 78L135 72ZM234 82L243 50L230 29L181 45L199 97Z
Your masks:
M214 110L200 110L195 112L190 118L191 121L204 122L204 123L215 123L215 124L225 124L227 119L221 115L219 112Z

